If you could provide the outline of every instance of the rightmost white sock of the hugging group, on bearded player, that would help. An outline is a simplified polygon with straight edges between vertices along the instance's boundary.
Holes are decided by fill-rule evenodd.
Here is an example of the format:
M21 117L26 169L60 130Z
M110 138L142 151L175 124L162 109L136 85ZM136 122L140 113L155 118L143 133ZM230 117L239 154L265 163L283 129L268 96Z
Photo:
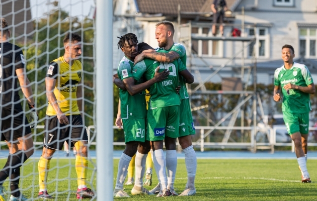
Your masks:
M185 153L185 164L187 169L187 184L186 187L195 189L195 175L197 170L197 157L193 145L183 149Z

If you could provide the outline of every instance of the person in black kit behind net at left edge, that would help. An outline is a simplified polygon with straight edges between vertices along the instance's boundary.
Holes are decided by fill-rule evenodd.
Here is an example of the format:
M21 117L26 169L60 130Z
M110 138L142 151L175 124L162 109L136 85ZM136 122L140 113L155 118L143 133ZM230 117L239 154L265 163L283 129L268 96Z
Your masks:
M27 200L20 193L20 167L33 154L31 128L37 125L37 112L30 81L25 72L25 59L20 47L9 43L10 31L8 23L0 18L0 110L1 136L9 147L7 163L0 171L0 200L6 200L3 183L9 177L10 201ZM22 109L17 80L30 108L29 124ZM31 128L30 128L31 127Z

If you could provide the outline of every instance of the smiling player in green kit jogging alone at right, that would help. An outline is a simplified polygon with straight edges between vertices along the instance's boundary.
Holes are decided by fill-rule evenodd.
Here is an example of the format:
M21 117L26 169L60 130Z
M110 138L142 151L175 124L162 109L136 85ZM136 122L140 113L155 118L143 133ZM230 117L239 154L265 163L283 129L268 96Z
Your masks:
M294 141L295 153L301 170L301 182L310 183L306 167L307 137L309 126L309 111L311 111L309 94L315 93L308 68L293 62L294 48L291 45L282 47L284 65L274 73L274 100L282 99L283 119L287 132ZM279 90L282 88L283 98Z

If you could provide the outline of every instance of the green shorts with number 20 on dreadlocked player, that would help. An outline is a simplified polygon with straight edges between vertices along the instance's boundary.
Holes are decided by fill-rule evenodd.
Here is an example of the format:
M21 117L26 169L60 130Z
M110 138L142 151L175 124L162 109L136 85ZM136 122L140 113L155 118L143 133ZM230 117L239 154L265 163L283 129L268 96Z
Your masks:
M145 142L145 120L146 118L122 119L125 143L131 141Z

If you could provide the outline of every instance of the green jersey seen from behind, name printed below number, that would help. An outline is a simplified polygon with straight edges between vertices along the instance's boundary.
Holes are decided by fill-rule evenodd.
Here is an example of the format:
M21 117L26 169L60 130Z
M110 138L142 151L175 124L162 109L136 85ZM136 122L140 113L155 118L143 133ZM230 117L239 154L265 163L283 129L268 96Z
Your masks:
M149 100L149 110L168 106L179 106L181 99L176 92L179 80L178 73L186 69L186 66L184 66L180 59L172 63L163 63L145 58L134 66L132 75L135 80L139 80L144 73L145 79L149 80L154 77L157 66L160 66L159 72L168 69L170 70L170 74L167 79L156 82L150 86L151 97Z

